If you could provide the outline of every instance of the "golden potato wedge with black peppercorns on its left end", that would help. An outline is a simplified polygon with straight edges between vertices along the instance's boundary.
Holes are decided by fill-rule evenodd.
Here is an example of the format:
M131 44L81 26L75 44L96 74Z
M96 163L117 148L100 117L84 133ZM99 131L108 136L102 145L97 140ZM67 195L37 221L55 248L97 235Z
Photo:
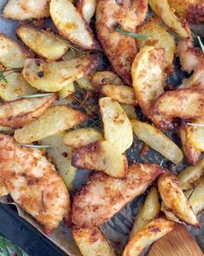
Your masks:
M96 67L95 56L76 57L66 62L44 62L27 59L22 75L36 89L59 91L70 82L88 74Z

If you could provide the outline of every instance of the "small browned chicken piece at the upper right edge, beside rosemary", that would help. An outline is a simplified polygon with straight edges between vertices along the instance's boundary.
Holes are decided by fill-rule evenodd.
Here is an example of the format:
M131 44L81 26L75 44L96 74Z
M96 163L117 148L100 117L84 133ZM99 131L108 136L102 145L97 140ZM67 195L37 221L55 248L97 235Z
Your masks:
M191 39L183 39L177 46L176 54L180 58L182 64L182 69L190 73L191 71L197 69L201 59L204 55L200 48L194 48Z

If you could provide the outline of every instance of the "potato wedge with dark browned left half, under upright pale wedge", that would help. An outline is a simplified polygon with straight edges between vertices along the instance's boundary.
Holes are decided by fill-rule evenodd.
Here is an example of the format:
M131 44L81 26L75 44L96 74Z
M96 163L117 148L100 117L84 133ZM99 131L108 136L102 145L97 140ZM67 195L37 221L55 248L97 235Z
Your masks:
M108 141L96 141L73 152L74 167L104 172L114 178L124 178L128 162Z

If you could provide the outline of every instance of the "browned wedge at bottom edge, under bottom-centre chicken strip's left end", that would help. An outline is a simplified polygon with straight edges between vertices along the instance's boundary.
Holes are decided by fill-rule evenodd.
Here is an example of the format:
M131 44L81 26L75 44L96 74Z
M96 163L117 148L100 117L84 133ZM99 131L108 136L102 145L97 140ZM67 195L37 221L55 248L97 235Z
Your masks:
M99 227L81 228L73 226L73 238L83 256L116 256L111 244Z

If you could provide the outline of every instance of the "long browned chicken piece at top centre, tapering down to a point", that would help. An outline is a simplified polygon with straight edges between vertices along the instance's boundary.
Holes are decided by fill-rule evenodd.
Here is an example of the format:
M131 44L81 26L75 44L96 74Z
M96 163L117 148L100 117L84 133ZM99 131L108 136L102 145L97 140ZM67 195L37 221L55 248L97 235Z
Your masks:
M99 0L96 29L99 42L112 67L124 82L131 84L131 63L137 54L135 38L116 31L116 27L135 32L145 18L147 0Z

